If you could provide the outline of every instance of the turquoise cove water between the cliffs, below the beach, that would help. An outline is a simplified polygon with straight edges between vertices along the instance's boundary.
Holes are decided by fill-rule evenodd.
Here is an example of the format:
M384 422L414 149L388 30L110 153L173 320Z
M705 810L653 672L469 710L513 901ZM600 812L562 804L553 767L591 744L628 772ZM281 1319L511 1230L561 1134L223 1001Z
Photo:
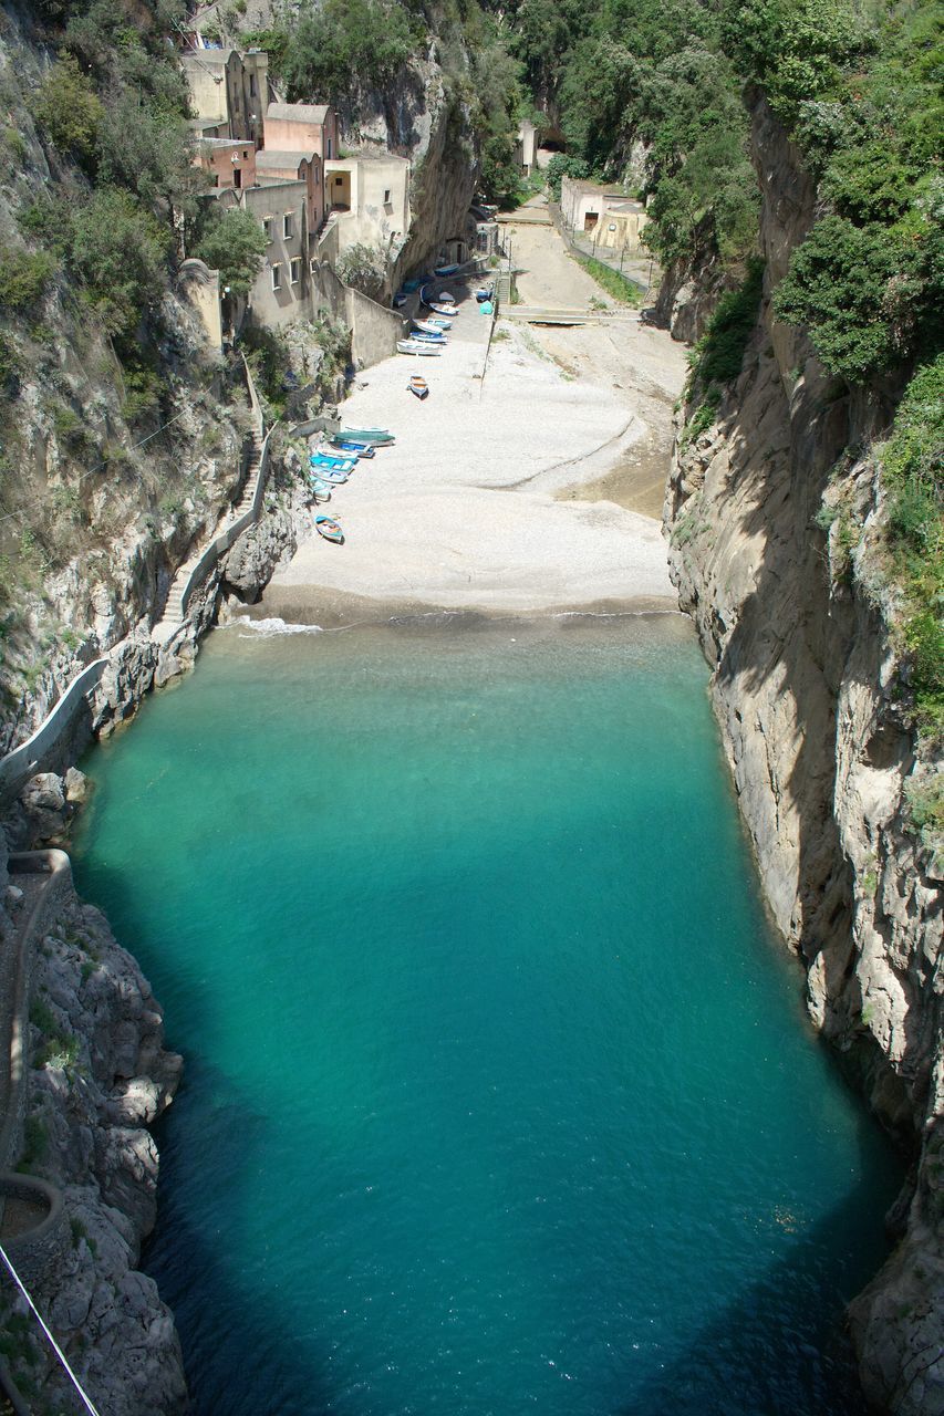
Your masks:
M201 1416L860 1410L899 1168L771 939L676 619L213 636L78 843L186 1055Z

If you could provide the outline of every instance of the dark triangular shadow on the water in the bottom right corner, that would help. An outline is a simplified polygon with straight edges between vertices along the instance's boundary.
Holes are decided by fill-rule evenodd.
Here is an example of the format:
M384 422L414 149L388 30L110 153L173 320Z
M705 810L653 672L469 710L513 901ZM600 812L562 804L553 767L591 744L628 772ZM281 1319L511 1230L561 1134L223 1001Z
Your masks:
M788 1257L746 1286L658 1374L645 1376L612 1416L866 1416L845 1306L883 1259L867 1178L872 1124L863 1114L866 1178L829 1215L797 1233ZM835 1280L838 1255L842 1289Z

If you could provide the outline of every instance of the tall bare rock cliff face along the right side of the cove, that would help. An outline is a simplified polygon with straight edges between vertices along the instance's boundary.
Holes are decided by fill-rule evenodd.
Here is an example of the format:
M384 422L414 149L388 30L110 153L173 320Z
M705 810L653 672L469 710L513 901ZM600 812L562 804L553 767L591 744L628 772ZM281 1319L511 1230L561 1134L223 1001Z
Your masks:
M909 817L906 789L934 763L903 719L882 489L856 453L887 409L829 379L802 333L772 319L815 190L763 102L753 143L764 300L714 425L679 440L670 568L713 667L741 813L774 919L805 966L809 1012L918 1155L897 1206L904 1236L850 1317L869 1398L928 1416L944 1410L941 865Z

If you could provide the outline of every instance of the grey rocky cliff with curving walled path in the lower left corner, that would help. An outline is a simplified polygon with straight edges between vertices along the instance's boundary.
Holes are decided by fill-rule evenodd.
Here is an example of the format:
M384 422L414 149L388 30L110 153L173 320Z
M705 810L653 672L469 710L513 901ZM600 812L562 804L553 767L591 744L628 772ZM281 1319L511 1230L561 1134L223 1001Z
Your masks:
M28 905L17 881L26 884L7 875L0 834L4 949ZM180 1344L137 1259L156 1212L157 1151L147 1127L170 1103L181 1061L163 1046L160 1007L137 964L71 885L57 892L31 946L17 1170L41 1177L62 1208L40 1242L31 1239L28 1209L7 1199L3 1242L98 1409L173 1416L186 1409ZM4 997L4 1015L7 1007ZM7 1192L9 1185L4 1177ZM3 1358L30 1409L78 1409L6 1274L0 1321Z

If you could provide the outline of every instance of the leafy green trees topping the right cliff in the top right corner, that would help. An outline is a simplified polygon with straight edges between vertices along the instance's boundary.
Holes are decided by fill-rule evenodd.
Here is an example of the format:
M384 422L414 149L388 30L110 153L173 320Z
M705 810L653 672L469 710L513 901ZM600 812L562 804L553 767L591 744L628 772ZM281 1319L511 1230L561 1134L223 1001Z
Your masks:
M941 343L944 57L933 6L748 0L730 31L832 211L794 252L775 309L850 384Z

